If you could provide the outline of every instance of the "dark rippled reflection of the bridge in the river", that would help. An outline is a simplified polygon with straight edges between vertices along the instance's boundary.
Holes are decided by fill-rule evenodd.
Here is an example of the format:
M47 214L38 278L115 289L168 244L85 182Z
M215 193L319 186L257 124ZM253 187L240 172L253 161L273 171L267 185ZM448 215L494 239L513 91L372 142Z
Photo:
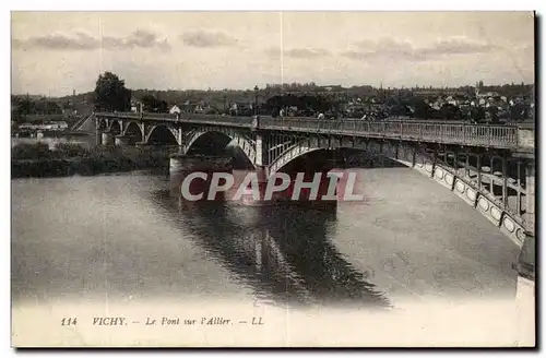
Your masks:
M169 191L153 200L190 230L215 260L271 305L344 305L389 308L389 300L356 271L330 240L335 206L242 206L227 202L187 202ZM181 238L182 239L182 238Z

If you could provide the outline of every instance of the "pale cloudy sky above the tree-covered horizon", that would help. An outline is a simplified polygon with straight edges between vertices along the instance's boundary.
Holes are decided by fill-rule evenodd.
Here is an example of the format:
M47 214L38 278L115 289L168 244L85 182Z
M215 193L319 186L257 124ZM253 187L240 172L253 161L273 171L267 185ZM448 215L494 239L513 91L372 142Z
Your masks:
M12 12L12 93L534 82L532 12Z

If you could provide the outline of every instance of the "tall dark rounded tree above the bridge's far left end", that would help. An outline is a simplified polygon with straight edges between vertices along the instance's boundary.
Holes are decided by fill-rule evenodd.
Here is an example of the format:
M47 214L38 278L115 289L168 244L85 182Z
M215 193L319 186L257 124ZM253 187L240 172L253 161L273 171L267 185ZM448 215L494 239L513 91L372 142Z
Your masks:
M131 108L131 91L111 72L98 75L94 93L95 108L108 111L127 111Z

